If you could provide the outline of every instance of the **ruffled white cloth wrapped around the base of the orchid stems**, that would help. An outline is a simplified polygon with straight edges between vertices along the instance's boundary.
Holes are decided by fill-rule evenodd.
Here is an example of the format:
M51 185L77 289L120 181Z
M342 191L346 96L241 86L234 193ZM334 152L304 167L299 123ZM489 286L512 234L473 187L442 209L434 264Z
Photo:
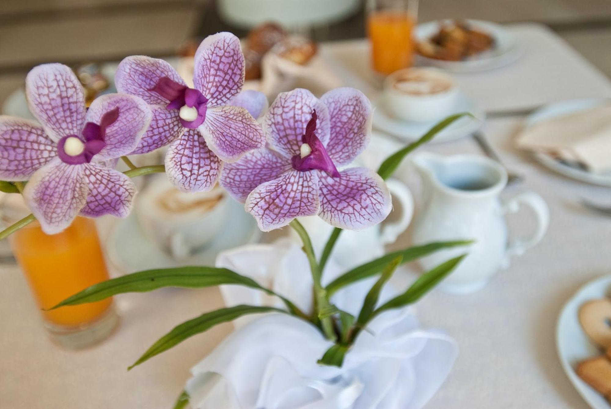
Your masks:
M221 253L216 264L270 286L299 308L312 305L307 259L295 242L247 245ZM327 281L338 273L329 266ZM357 314L373 281L338 291L332 302ZM222 286L221 291L227 306L282 306L259 291L236 286ZM381 302L393 294L387 288ZM360 333L342 368L316 363L331 342L313 325L279 313L249 321L242 320L238 330L192 368L186 390L193 408L420 408L444 382L458 353L452 338L420 328L412 307L376 317Z

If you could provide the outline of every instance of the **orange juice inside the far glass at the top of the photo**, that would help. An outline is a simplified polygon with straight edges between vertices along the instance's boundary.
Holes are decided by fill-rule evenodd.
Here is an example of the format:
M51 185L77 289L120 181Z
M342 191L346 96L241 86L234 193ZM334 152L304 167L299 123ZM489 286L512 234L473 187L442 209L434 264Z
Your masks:
M368 16L367 28L375 71L387 75L411 67L414 25L415 18L404 10L376 11Z

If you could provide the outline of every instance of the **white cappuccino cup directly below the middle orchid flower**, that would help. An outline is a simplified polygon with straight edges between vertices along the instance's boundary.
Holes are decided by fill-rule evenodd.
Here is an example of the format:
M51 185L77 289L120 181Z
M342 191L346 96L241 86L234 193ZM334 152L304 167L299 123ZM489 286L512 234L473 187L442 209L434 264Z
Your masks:
M201 250L227 220L227 194L216 186L210 192L184 193L167 178L155 178L139 194L136 216L144 234L175 259Z

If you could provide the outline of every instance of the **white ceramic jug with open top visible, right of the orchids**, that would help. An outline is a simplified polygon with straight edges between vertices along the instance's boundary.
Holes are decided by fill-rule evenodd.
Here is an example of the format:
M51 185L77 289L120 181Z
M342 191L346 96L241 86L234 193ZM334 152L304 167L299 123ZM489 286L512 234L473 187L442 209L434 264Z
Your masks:
M478 291L489 278L509 265L511 256L522 255L544 236L549 211L543 198L533 192L500 201L507 172L495 161L481 156L439 156L420 153L412 157L422 177L423 209L414 221L414 244L470 239L468 247L456 247L420 260L425 270L465 252L469 255L440 288L447 292ZM537 220L532 237L508 243L504 214L530 206Z

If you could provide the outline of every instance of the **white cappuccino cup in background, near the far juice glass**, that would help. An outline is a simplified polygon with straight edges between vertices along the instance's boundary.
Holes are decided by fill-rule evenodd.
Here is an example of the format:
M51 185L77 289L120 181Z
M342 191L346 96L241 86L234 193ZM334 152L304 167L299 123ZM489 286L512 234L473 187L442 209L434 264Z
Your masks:
M458 100L454 79L437 68L405 68L384 80L384 104L406 121L441 120L453 113Z

